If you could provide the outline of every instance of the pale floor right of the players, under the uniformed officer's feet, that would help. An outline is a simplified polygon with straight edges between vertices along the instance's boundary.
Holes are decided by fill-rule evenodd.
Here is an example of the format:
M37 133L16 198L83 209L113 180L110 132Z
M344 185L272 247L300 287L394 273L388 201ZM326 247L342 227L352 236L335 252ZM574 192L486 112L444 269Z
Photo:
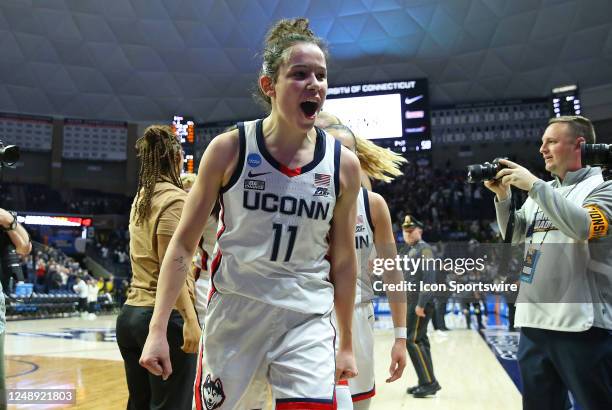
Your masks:
M434 397L415 399L406 388L417 384L408 359L401 380L385 383L393 334L376 335L376 396L371 410L519 410L521 395L495 355L475 330L452 330L429 335L434 372L442 390ZM386 349L386 350L385 350Z

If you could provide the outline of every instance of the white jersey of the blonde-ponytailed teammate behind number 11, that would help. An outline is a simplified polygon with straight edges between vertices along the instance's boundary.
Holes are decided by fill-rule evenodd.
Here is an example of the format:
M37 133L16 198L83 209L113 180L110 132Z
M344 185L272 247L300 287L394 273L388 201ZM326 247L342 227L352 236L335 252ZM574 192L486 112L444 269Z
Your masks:
M357 221L355 224L355 251L357 253L357 289L355 303L369 302L374 299L370 279L370 259L375 256L374 225L370 216L368 191L361 188L357 197Z

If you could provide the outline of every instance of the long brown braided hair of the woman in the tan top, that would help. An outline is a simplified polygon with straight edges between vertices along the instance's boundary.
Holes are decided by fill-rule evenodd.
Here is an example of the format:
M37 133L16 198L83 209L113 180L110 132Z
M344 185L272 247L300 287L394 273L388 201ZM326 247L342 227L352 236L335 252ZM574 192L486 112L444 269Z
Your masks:
M179 164L181 143L171 127L151 125L136 141L137 156L140 158L138 190L134 201L136 224L142 223L151 211L151 199L155 184L161 180L183 189Z

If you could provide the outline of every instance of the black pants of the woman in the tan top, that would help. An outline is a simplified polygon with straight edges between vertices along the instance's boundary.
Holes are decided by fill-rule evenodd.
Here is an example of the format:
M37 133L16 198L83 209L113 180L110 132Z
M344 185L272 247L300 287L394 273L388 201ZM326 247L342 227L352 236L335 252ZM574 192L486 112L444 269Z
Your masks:
M117 317L117 344L123 356L129 398L128 410L190 410L196 373L196 354L181 350L183 319L172 311L168 322L168 345L172 375L163 381L138 364L149 334L152 307L123 305Z

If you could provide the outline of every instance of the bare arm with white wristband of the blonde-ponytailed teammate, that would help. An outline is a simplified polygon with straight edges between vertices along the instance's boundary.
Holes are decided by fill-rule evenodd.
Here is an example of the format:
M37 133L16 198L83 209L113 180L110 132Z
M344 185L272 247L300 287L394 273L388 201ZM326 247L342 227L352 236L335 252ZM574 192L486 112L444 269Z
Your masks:
M395 260L397 248L387 202L375 192L368 192L368 201L370 203L370 216L374 225L376 256L380 259ZM400 285L404 280L404 275L395 268L395 264L393 266L393 269L385 270L383 280L385 283ZM397 286L396 289L400 289L400 287ZM391 348L390 377L387 379L387 383L391 383L402 377L406 367L406 292L387 290L387 298L391 309L393 327L398 329L395 335L395 343Z

